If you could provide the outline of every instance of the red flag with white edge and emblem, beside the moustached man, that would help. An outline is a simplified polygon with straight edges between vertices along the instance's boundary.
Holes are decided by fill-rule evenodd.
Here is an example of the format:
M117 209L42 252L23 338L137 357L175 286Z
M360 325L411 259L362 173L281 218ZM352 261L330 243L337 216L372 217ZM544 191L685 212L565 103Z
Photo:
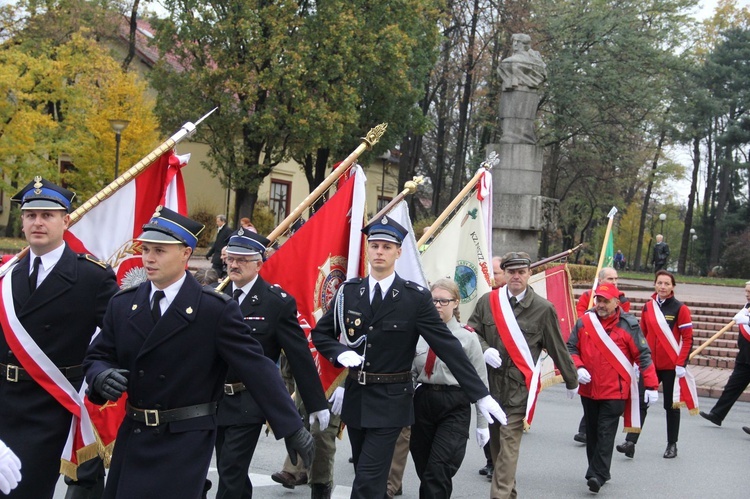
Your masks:
M278 284L297 300L297 317L327 396L341 381L343 369L333 367L318 353L310 332L328 310L341 283L363 275L364 209L365 176L355 165L336 194L281 245L260 271L263 279Z

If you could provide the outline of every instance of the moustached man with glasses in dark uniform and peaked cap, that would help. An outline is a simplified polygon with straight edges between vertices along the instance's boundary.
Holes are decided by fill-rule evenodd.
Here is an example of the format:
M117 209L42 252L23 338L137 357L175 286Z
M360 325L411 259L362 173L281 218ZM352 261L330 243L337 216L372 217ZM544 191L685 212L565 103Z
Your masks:
M318 421L328 427L328 401L320 383L307 337L297 321L297 303L281 287L271 286L258 272L263 267L265 237L240 229L229 238L227 272L232 285L225 292L240 304L245 324L263 353L276 364L284 350L294 379L297 395L309 408L310 425ZM253 485L247 475L266 416L247 391L238 373L230 369L219 403L219 429L216 437L216 467L219 471L217 499L250 499ZM311 428L312 429L312 428Z

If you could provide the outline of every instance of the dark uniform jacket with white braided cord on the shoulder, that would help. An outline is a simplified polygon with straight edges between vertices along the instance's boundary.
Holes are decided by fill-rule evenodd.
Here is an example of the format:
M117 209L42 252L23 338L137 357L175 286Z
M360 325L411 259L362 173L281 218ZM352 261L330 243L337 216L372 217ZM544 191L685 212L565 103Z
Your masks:
M313 343L334 366L342 367L336 358L349 347L339 342L339 335L349 341L362 336L367 340L356 351L365 356L362 366L372 373L411 371L417 340L422 336L435 353L444 359L469 400L488 395L474 367L432 304L425 287L404 281L396 275L378 313L373 316L367 279L352 279L343 286L344 331L334 328L335 307L321 317L312 332ZM342 292L339 288L338 293ZM337 293L337 294L338 294ZM335 300L334 300L335 303ZM411 380L404 383L360 385L347 378L341 419L353 428L410 426L414 422Z

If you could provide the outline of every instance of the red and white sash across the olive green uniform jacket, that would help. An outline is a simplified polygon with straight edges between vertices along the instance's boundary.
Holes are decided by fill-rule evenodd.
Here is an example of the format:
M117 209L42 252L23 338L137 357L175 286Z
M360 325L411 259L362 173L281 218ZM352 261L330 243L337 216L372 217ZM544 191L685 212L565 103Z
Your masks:
M513 307L508 300L506 286L491 293L494 296L490 295L490 310L492 311L492 317L495 319L497 333L511 360L513 360L513 364L523 374L526 388L529 391L529 398L526 401L526 416L523 421L524 427L528 429L531 426L531 420L534 419L536 400L541 389L539 379L542 372L542 356L540 355L539 359L534 362L529 344L526 342L523 331L518 326Z

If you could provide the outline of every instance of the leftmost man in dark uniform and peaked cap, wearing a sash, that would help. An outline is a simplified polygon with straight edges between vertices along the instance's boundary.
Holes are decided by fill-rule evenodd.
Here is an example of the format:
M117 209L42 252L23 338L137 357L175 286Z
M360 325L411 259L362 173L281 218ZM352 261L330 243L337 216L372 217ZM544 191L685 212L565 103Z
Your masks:
M12 295L12 300L4 300L4 315L17 317L68 387L78 391L86 348L97 326L103 324L107 303L118 288L108 265L75 253L63 240L74 196L36 177L12 198L21 204L29 252L3 277L2 285ZM51 498L71 413L29 374L29 361L22 360L19 347L8 344L8 335L20 339L23 332L0 327L0 440L23 466L23 480L10 497ZM25 350L29 351L28 346ZM32 358L40 365L45 360Z

